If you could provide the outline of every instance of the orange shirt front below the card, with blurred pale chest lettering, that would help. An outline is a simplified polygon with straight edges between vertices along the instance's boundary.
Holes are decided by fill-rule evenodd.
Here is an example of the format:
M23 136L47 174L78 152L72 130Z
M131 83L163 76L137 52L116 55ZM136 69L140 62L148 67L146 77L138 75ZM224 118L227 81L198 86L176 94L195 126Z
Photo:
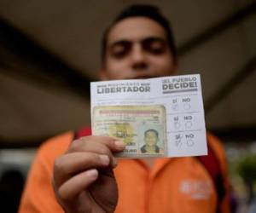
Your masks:
M151 170L142 164L119 166L123 166L116 173L120 204L129 197L133 204L148 208L142 212L156 208L161 209L156 212L214 212L216 193L212 179L196 159L156 162Z

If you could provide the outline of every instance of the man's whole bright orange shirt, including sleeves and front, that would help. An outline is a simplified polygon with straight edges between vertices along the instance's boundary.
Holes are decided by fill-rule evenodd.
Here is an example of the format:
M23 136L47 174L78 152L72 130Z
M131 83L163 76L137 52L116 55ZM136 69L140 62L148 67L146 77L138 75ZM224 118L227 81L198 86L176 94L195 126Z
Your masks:
M55 158L67 150L72 140L73 133L67 132L40 147L26 182L20 213L64 212L55 199L51 179ZM212 135L208 135L208 142L227 174L223 147ZM117 213L216 212L217 193L212 179L196 158L158 158L151 170L140 160L122 159L114 174L119 187ZM228 191L227 176L224 186ZM230 212L228 195L221 210Z

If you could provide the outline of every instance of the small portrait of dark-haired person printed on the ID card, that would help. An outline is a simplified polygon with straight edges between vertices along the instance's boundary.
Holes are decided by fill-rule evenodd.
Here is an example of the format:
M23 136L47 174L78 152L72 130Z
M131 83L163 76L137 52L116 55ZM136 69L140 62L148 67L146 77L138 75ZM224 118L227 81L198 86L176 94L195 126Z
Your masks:
M141 147L142 153L163 153L163 150L157 146L159 141L158 131L149 129L144 132L145 145Z

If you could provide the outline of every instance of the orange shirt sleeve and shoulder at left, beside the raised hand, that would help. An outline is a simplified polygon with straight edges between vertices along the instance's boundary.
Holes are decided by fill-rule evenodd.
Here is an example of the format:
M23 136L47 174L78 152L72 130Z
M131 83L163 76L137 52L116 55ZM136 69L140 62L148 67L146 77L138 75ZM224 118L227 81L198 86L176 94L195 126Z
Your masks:
M55 158L65 153L72 140L73 132L69 131L45 141L39 147L27 176L19 212L49 212L49 206L55 212L62 212L60 205L55 201L51 184L52 171Z

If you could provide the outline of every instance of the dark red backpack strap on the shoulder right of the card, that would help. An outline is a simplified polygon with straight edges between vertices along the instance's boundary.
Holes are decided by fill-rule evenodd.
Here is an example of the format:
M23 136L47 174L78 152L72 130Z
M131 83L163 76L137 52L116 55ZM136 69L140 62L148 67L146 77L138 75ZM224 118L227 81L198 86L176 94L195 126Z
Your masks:
M218 213L220 212L220 205L226 193L224 188L224 176L220 168L220 163L216 153L214 153L214 151L212 150L212 147L209 146L209 143L207 143L207 147L208 147L208 155L198 156L196 158L201 162L201 164L205 167L208 174L212 178L212 182L214 184L214 187L218 196L218 203L217 203L217 209L216 209L216 213Z

